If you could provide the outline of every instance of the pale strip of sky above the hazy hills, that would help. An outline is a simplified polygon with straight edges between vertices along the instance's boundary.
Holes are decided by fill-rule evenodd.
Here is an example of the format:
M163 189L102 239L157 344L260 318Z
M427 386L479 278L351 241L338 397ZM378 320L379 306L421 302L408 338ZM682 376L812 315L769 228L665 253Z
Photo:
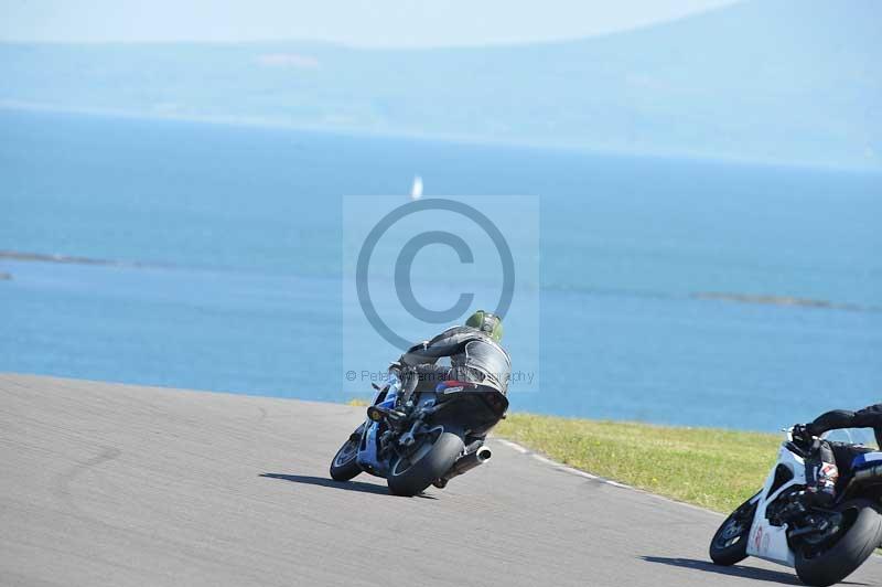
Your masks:
M353 46L553 41L735 0L0 0L0 41L316 40Z

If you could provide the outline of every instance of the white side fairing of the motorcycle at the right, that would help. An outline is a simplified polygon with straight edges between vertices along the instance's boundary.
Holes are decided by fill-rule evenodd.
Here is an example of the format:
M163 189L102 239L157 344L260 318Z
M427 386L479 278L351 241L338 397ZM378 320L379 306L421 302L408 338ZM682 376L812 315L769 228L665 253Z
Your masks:
M776 489L774 493L770 494L770 490L775 482L775 471L778 466L784 466L789 469L793 473L793 479ZM768 504L775 501L782 492L793 485L805 487L805 460L798 455L790 452L786 448L785 442L778 451L778 461L775 463L775 467L772 468L772 472L768 473L763 491L757 499L756 514L753 519L753 525L751 526L751 533L747 538L749 555L787 566L794 566L794 553L787 545L787 524L783 526L773 526L768 523L765 512Z

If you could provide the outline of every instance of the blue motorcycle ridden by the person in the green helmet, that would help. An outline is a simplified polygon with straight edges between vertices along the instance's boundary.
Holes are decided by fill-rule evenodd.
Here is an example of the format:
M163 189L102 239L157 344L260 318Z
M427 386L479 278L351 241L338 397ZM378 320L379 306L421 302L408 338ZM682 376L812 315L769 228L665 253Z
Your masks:
M495 373L510 370L503 359ZM385 478L397 495L416 495L430 484L443 489L491 458L483 439L508 409L507 378L498 383L444 381L418 386L405 399L392 372L386 385L375 385L367 417L334 456L331 477L348 481L367 472Z

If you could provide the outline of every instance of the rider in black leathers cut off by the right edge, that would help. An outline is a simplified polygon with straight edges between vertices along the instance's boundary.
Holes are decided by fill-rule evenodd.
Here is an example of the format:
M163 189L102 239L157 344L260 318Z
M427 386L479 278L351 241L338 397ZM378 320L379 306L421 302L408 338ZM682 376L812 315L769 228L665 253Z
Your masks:
M842 428L872 428L876 445L882 448L882 404L867 406L858 412L835 409L793 428L794 440L809 449L810 458L806 459L806 498L815 505L832 504L837 482L841 476L851 471L854 458L873 451L867 447L818 438L826 431Z

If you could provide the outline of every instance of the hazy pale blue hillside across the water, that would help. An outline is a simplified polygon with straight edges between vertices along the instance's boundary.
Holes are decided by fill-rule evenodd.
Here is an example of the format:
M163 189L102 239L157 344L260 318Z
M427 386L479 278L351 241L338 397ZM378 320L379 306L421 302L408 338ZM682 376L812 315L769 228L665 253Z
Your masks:
M564 43L0 45L0 104L882 168L882 6L756 0Z

